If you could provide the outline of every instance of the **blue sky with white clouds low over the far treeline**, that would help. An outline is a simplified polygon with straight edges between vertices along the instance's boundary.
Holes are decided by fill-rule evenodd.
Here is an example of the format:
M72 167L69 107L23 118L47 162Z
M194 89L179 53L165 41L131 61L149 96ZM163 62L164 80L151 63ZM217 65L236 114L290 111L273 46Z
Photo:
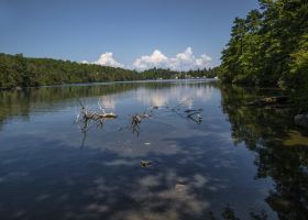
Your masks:
M0 52L130 68L213 66L233 19L255 8L257 0L0 0Z

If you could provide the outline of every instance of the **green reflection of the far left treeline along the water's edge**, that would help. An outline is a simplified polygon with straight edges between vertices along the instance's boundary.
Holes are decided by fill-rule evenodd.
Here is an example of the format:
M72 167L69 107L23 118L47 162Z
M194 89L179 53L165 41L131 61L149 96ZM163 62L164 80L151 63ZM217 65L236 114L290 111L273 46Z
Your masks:
M201 85L184 82L187 88L200 87ZM75 99L75 95L78 97L95 97L106 96L112 94L121 94L123 91L146 88L150 90L160 90L163 88L177 87L174 82L123 82L123 84L108 84L108 85L80 85L80 86L56 86L56 87L43 87L43 88L30 88L23 91L1 91L0 92L0 129L1 125L10 117L19 116L26 119L30 111L38 109L44 111L46 106L47 111L63 108L62 105L69 105L63 100ZM141 89L142 90L142 89Z

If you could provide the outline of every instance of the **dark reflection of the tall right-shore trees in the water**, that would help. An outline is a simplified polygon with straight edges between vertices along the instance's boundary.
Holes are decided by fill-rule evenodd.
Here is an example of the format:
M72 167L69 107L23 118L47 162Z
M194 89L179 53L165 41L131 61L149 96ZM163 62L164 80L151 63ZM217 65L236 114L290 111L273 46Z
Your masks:
M273 110L244 107L256 97L273 95L271 90L249 90L222 87L222 108L232 125L234 143L244 142L257 153L256 178L271 177L275 189L270 191L266 202L280 219L308 219L308 148L307 133L297 131L292 124L292 110ZM297 141L286 145L290 139Z

